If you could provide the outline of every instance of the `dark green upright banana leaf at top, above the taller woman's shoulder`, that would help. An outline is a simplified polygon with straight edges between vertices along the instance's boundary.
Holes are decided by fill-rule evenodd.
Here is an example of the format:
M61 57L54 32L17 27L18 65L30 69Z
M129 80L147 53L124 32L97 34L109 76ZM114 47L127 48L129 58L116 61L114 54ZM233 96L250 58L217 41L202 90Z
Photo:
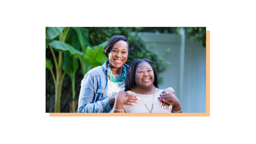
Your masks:
M89 42L89 29L84 27L73 27L77 33L82 52L86 52L86 47L91 46Z

